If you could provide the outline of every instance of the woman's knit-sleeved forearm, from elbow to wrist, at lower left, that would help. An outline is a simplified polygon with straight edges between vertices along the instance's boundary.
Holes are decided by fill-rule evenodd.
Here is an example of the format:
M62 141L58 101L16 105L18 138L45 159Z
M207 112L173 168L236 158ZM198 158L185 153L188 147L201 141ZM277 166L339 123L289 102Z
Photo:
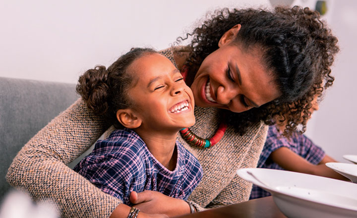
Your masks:
M19 154L7 176L20 190L30 192L37 200L51 199L60 209L61 217L108 218L119 199L105 194L65 164L49 157ZM15 173L19 173L14 176Z

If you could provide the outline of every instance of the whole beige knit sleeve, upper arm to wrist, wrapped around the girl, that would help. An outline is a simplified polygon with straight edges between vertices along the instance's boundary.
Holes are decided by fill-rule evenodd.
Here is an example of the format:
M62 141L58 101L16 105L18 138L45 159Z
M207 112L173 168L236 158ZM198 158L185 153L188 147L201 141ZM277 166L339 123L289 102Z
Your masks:
M78 99L20 150L6 179L35 200L53 200L61 217L108 218L121 203L66 164L87 150L108 126Z

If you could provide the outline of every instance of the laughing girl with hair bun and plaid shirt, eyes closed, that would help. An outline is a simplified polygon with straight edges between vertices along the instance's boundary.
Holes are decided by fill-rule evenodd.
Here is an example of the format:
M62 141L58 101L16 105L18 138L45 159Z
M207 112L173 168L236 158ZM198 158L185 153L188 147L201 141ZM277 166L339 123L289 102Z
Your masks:
M132 191L188 198L202 178L202 167L176 137L195 123L194 100L168 58L151 49L132 49L108 69L86 71L77 92L117 130L98 141L75 171L129 206ZM130 212L132 217L137 213L134 208Z

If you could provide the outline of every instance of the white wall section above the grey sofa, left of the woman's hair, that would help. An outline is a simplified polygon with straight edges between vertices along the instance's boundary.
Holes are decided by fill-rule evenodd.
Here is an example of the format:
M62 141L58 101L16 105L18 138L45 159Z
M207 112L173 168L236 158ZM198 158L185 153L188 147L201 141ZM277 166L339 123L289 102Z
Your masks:
M207 10L234 2L1 0L0 76L76 83L85 70L109 66L132 47L168 48Z

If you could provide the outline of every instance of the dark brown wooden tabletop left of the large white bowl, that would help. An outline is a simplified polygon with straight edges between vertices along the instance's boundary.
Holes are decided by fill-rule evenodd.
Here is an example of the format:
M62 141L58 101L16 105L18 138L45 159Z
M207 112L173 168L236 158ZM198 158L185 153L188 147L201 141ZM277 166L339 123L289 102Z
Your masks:
M286 218L286 216L280 212L273 197L270 196L179 218Z

